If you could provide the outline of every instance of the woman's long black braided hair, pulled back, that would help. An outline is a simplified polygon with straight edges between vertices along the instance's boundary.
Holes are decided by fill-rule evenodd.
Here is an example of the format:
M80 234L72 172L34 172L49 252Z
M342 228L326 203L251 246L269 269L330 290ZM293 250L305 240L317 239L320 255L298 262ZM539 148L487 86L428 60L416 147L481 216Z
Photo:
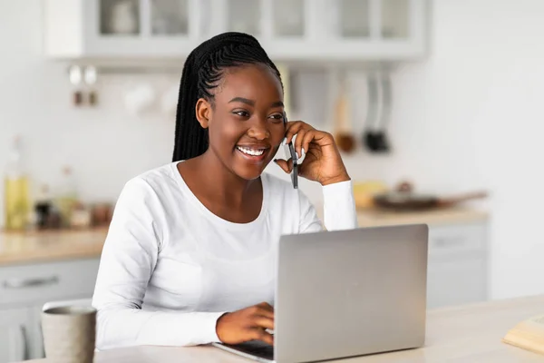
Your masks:
M197 121L197 101L204 98L213 104L212 90L219 85L224 70L244 64L267 65L281 83L276 65L268 58L257 39L249 34L218 34L189 54L181 74L173 162L194 158L206 152L209 146L208 129L202 128Z

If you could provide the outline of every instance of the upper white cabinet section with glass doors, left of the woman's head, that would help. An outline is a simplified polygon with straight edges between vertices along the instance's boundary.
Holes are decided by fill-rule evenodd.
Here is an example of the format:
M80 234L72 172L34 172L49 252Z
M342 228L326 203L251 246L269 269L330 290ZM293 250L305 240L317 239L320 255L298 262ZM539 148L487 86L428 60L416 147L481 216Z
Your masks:
M53 58L169 57L195 44L199 0L47 0L45 49ZM191 11L192 10L192 11ZM189 15L189 12L191 15Z

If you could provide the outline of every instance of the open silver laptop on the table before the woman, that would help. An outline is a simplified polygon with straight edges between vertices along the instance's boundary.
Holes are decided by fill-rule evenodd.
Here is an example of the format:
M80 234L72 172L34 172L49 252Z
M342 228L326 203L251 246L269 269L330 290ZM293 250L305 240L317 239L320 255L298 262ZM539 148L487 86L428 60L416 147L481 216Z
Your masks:
M422 347L428 234L413 224L282 236L274 346L214 346L277 363Z

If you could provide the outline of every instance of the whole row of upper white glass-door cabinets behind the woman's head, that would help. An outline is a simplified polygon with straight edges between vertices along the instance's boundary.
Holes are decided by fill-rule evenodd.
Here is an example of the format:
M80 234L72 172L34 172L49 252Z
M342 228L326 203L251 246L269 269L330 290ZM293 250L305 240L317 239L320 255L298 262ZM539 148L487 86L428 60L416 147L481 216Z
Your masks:
M424 54L426 0L45 0L45 52L88 62L178 60L213 34L257 36L272 59Z

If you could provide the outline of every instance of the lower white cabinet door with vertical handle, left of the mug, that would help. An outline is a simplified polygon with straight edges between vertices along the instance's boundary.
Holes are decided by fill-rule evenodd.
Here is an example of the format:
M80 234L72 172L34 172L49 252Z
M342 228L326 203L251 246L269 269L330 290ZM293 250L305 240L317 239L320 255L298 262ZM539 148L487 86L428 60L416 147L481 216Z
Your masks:
M0 363L20 362L28 358L31 315L28 309L0 310Z

